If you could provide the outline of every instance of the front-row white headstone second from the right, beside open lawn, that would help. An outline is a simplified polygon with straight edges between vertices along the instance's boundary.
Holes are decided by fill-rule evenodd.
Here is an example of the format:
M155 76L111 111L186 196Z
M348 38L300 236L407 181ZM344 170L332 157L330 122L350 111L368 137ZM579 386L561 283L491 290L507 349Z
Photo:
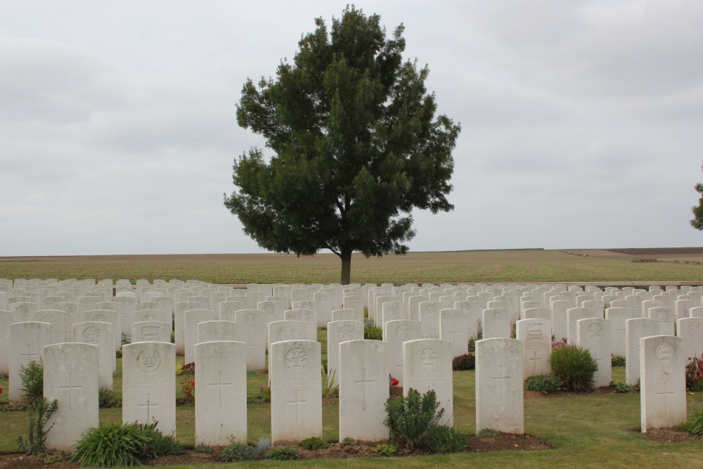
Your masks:
M508 338L476 341L476 432L524 432L522 347Z

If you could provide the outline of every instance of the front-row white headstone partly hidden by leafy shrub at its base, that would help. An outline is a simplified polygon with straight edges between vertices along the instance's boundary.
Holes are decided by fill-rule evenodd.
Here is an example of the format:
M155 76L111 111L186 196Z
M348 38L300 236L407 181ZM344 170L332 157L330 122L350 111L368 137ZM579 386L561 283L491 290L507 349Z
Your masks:
M441 423L453 426L453 375L451 342L439 339L408 340L403 343L403 395L413 389L425 394L434 390L444 409Z

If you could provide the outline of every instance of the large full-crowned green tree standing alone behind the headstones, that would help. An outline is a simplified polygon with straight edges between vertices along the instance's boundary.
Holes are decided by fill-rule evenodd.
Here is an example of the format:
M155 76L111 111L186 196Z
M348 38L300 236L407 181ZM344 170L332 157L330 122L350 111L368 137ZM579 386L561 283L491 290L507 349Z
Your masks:
M446 195L460 125L435 117L427 66L403 61L403 25L387 39L380 16L354 6L333 18L331 33L315 23L275 81L244 84L238 124L274 154L252 148L235 160L238 191L224 205L266 250L334 252L347 284L352 252L408 252L413 208L453 210Z

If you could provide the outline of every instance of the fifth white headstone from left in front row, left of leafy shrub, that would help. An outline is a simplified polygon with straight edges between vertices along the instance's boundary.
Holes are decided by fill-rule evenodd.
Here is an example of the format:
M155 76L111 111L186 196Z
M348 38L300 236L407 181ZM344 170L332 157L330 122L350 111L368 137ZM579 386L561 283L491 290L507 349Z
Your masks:
M337 347L341 357L337 373L340 442L344 438L372 442L388 439L388 428L383 425L389 395L387 347L380 340L352 340Z

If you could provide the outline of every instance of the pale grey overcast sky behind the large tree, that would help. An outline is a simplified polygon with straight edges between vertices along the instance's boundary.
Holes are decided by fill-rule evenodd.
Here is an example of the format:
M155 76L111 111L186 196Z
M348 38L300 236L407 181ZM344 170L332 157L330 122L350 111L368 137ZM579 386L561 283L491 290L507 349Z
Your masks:
M236 123L347 1L0 1L0 256L262 252ZM461 122L413 251L703 245L703 2L364 1Z

